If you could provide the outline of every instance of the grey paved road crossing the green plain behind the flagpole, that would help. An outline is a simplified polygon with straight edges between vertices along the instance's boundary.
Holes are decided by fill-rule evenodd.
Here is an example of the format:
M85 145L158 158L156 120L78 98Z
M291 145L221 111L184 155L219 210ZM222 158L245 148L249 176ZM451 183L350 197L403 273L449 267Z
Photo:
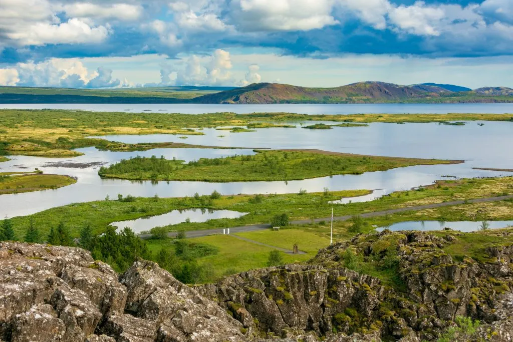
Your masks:
M513 199L513 195L469 199L468 203L499 202L504 199ZM415 207L405 207L405 208L390 209L390 210L384 210L384 211L375 211L375 212L360 214L360 216L361 217L385 216L385 215L400 213L400 212L405 212L405 211L419 211L419 210L424 210L424 209L450 207L450 206L456 206L456 205L464 204L464 203L465 203L464 200L455 200L452 202L425 204L422 206L415 206ZM333 221L347 221L351 217L352 217L352 215L335 216L335 217L333 217ZM329 222L330 220L331 220L331 217L303 219L303 220L290 221L290 224L291 225L305 225L305 224L309 224L312 222L314 222L314 223L318 223L321 221ZM232 227L232 228L230 228L230 234L231 233L252 232L252 231L264 230L264 229L269 229L269 228L271 228L271 225L251 225L251 226L243 226L243 227ZM177 233L168 233L168 236L175 237L176 234ZM185 234L187 237L201 237L201 236L208 236L208 235L214 235L214 234L223 234L223 229L191 230L191 231L185 232ZM140 237L146 239L146 238L151 237L151 235L145 234L145 235L140 235ZM252 240L251 240L251 242L256 243ZM264 244L260 244L260 245L264 245ZM264 246L267 246L267 245L264 245ZM271 246L268 246L268 247L271 247ZM273 247L273 248L276 248L276 247ZM276 249L279 249L279 248L276 248Z

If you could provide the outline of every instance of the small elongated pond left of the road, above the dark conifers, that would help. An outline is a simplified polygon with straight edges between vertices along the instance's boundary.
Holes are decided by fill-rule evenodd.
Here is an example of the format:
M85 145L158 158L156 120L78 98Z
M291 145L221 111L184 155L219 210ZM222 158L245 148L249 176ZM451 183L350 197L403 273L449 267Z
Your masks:
M119 229L129 227L135 233L149 231L155 227L163 227L167 225L176 225L186 222L207 222L210 219L219 218L238 218L246 215L247 213L240 213L231 210L208 210L208 209L187 209L187 210L173 210L163 215L142 217L134 220L113 222L111 226L118 227Z

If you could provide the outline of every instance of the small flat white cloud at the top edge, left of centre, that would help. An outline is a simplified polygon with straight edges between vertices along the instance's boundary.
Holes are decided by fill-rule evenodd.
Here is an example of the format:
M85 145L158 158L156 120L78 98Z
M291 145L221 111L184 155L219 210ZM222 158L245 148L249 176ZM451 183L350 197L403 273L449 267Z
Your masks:
M143 7L130 4L112 4L101 6L92 3L73 3L63 6L63 10L70 17L78 18L113 18L122 21L134 21L143 13Z

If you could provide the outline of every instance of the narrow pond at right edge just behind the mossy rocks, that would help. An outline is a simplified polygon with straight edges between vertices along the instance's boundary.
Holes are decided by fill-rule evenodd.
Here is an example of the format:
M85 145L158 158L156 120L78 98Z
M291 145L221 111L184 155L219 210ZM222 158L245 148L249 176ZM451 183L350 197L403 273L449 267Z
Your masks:
M498 229L498 228L506 228L508 226L513 226L513 221L487 221L488 229ZM482 228L482 222L472 222L472 221L458 221L458 222L441 222L441 221L409 221L409 222L400 222L393 224L389 227L380 227L376 230L382 232L385 229L391 231L401 231L401 230L422 230L422 231L430 231L430 230L443 230L445 227L448 227L452 230L459 230L461 232L475 232Z

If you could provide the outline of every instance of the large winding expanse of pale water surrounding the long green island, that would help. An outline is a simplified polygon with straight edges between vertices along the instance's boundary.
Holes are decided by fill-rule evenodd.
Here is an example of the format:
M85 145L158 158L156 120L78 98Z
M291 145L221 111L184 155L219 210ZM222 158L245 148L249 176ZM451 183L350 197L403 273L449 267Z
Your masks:
M237 107L237 106L235 106ZM461 108L461 107L460 107ZM283 111L284 109L282 109ZM239 193L295 193L307 191L369 189L374 193L359 198L345 199L357 202L398 190L409 190L428 185L444 176L492 177L513 175L511 172L473 170L472 167L513 168L512 122L470 122L465 126L438 124L384 124L373 123L369 127L335 127L331 130L299 128L257 129L257 132L230 133L205 129L205 135L190 135L180 139L176 135L110 135L106 139L127 143L180 142L210 146L236 146L251 148L309 148L368 155L399 157L465 159L464 164L415 166L362 175L337 175L289 182L131 182L121 179L102 179L97 175L101 165L119 162L121 159L141 155L164 155L186 162L202 157L220 157L234 154L252 154L250 149L155 149L144 152L108 152L95 148L78 149L85 155L73 158L41 158L11 156L13 160L0 163L0 172L24 171L39 168L45 173L68 174L77 177L77 183L68 187L30 193L0 196L0 215L8 217L32 214L52 207L76 202L102 200L107 195L115 198L123 195L151 197L192 196L210 194L217 190L222 194ZM224 135L224 137L220 137ZM57 164L55 164L57 163ZM78 168L82 167L82 168Z

